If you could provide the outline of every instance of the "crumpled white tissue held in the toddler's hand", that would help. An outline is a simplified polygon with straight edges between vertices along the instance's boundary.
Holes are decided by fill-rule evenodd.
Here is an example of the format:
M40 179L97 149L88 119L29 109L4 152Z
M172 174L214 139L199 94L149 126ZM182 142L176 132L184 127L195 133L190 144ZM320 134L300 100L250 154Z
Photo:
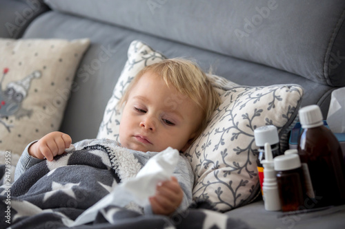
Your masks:
M84 211L69 226L79 226L92 222L102 208L112 204L126 206L129 201L135 201L139 206L149 204L148 197L155 195L159 182L170 179L179 160L179 151L168 147L148 160L136 177L128 179L116 186L111 193L100 199L96 204Z

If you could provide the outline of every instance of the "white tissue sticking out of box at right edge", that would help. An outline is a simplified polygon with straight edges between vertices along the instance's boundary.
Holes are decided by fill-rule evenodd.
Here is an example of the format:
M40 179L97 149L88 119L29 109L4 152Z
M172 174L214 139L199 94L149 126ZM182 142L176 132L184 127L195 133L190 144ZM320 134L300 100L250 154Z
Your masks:
M333 133L345 133L345 87L332 92L327 124Z

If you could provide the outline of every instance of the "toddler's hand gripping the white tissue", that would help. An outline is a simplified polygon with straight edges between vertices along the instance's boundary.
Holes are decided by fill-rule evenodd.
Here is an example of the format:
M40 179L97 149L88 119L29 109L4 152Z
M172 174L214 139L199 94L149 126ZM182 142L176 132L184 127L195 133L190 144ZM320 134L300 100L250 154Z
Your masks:
M179 182L177 182L176 177L171 177L171 180L158 185L156 195L149 199L153 213L170 215L177 210L183 198L184 193Z

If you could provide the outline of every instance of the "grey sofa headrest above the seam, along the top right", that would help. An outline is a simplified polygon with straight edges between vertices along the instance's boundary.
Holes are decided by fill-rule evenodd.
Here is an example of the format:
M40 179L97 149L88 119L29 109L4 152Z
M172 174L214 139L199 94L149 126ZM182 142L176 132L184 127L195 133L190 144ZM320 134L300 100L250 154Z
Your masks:
M102 2L46 0L62 12L345 85L345 1Z

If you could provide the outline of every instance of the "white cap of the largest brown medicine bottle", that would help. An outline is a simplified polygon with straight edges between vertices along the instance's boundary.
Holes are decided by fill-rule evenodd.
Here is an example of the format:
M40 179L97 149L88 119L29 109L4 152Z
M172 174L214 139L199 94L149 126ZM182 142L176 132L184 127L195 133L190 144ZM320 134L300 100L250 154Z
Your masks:
M313 128L322 126L322 113L321 109L317 105L310 105L299 109L299 121L302 124L302 128Z

